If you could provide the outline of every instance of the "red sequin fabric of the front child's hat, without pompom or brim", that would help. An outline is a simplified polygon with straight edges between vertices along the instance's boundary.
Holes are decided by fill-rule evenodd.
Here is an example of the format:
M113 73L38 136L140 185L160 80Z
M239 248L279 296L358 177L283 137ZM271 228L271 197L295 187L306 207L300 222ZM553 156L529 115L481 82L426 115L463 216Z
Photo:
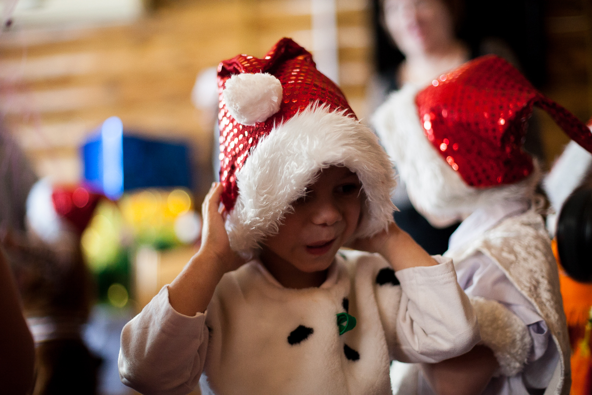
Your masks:
M234 74L269 73L282 84L282 103L278 113L266 121L246 126L238 123L224 104L224 84ZM282 38L263 59L240 54L224 60L218 65L220 126L220 181L224 184L222 202L226 210L236 203L239 189L236 174L243 167L249 153L263 136L309 104L318 102L328 105L330 110L345 111L344 115L355 118L355 114L341 90L329 78L318 72L313 56L290 38Z

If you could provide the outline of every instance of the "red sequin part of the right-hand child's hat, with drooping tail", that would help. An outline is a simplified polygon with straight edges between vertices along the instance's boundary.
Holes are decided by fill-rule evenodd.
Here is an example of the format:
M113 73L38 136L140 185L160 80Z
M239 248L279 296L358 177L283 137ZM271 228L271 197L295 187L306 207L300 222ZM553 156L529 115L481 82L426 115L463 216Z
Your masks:
M513 184L533 171L523 150L533 105L592 152L592 134L584 123L494 55L441 75L417 94L416 104L427 139L472 187Z

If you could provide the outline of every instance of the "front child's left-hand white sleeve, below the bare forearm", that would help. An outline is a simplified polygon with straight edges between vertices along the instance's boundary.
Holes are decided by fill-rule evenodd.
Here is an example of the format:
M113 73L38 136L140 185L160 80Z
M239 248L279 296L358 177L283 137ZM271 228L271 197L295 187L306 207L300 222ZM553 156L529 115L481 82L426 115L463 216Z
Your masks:
M121 382L145 395L187 394L200 380L207 346L205 314L175 311L165 286L121 331Z

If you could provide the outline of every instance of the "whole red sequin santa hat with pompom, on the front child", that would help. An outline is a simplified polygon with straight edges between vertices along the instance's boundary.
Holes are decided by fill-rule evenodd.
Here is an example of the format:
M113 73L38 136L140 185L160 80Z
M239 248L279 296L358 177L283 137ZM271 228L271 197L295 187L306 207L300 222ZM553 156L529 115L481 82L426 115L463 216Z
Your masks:
M292 202L323 168L348 167L365 193L356 235L392 221L392 165L312 55L282 38L262 59L241 54L218 66L220 181L232 248L250 255L278 230Z

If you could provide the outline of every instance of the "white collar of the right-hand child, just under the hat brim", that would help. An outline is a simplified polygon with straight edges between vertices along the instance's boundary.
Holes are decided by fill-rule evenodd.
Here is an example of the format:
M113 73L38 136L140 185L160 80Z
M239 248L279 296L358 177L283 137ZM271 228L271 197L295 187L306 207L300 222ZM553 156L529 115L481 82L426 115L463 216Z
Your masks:
M478 208L462 221L448 240L448 249L459 248L476 237L490 230L501 220L521 214L528 210L530 203L526 200L503 201L489 207Z

